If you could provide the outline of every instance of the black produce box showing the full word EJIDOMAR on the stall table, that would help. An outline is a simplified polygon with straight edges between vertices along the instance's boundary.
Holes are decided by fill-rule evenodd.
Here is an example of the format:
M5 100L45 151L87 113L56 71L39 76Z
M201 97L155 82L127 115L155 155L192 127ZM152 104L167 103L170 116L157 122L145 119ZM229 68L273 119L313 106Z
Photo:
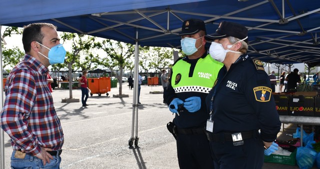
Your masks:
M290 96L289 116L314 116L314 97L313 96Z

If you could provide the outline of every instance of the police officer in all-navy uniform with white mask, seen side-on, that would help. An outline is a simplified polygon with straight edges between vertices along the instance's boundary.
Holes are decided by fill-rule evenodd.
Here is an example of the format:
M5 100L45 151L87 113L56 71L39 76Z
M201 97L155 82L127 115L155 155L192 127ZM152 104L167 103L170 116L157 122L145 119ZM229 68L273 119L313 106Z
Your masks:
M246 54L243 25L222 21L205 38L212 41L211 57L224 64L206 97L211 114L206 133L214 167L261 169L263 154L277 150L274 140L281 126L268 75L261 61Z

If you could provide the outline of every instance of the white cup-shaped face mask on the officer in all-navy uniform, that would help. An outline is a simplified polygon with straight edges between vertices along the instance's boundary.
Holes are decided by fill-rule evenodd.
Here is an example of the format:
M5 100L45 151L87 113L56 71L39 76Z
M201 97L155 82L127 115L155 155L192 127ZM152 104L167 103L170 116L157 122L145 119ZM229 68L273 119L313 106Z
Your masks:
M244 39L241 39L237 42L240 42L240 41L243 41L245 40L246 38L248 38L247 36L244 38ZM235 42L235 43L237 43ZM222 44L220 43L216 43L216 42L211 42L211 45L210 45L210 48L209 48L209 53L210 53L210 56L214 59L214 60L217 60L219 62L223 62L223 60L225 59L225 55L227 52L233 52L233 53L239 53L241 54L241 52L238 52L238 51L233 51L233 50L230 50L229 48L231 48L235 43L231 44L231 45L227 45L227 48L224 49Z

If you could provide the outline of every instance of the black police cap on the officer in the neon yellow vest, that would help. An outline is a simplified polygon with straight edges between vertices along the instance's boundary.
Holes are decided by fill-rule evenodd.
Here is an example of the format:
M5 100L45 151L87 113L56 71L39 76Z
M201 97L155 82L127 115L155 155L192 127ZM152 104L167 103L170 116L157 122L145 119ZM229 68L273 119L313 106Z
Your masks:
M204 22L200 19L188 19L184 20L182 23L182 31L178 34L181 35L190 35L199 32L200 30L205 31Z

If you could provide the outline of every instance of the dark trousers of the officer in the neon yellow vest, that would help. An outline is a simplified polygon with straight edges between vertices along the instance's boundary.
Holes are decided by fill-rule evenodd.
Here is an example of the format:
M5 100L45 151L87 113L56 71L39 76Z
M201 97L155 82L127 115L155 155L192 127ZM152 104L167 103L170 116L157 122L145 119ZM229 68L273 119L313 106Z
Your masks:
M204 132L198 135L177 134L176 147L180 169L214 169Z

